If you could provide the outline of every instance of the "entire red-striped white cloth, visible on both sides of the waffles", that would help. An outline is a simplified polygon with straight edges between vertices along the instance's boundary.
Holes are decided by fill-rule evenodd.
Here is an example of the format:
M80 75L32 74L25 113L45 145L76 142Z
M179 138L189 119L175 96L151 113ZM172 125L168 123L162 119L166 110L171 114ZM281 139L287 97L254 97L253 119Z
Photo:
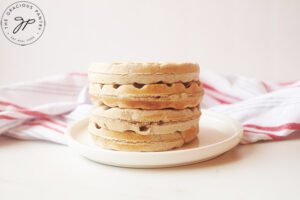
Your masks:
M275 83L202 69L202 108L244 127L241 143L282 139L300 129L300 81ZM92 104L87 74L69 73L0 87L0 134L66 144L68 125Z

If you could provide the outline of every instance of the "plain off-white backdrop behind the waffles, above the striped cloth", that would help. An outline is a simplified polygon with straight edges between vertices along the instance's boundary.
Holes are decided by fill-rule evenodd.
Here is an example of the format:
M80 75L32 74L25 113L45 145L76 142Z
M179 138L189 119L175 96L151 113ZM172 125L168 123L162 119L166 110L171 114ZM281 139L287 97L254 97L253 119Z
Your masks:
M12 0L0 1L1 15ZM0 33L0 84L91 61L196 61L266 80L300 78L297 0L32 0L46 28L22 47Z

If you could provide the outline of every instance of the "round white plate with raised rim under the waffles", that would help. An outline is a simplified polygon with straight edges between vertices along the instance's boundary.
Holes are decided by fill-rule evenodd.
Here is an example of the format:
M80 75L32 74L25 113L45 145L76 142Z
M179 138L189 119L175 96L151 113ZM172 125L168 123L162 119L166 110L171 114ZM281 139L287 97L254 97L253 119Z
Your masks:
M164 152L124 152L94 145L87 130L88 118L68 128L68 144L80 155L107 165L133 168L172 167L214 158L235 147L243 133L242 126L226 115L202 110L198 139Z

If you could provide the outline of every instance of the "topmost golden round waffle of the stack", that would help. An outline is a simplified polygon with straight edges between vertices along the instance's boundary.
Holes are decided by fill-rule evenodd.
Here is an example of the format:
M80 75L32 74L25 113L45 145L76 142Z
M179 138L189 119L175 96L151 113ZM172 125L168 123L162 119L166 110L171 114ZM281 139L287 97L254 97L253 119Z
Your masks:
M102 84L151 84L199 80L196 63L91 63L89 81Z

